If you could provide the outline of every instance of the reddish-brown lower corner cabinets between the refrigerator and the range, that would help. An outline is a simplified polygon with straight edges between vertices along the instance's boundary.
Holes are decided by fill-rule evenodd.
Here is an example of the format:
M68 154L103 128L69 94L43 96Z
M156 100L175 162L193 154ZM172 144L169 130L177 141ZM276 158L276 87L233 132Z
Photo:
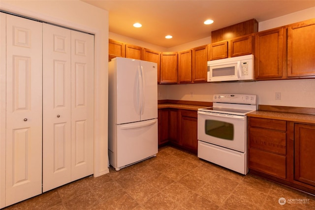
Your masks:
M167 143L197 153L197 111L158 110L158 145Z

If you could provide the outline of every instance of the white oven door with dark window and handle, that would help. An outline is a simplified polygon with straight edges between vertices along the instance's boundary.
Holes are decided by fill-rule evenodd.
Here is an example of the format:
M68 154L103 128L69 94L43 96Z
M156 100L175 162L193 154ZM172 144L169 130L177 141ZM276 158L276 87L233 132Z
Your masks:
M198 111L198 140L246 151L247 117Z

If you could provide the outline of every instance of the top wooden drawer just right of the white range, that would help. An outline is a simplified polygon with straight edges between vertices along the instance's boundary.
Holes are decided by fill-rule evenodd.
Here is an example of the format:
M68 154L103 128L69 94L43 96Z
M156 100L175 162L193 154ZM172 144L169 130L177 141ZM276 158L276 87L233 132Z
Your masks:
M264 118L250 118L250 126L286 131L286 121Z

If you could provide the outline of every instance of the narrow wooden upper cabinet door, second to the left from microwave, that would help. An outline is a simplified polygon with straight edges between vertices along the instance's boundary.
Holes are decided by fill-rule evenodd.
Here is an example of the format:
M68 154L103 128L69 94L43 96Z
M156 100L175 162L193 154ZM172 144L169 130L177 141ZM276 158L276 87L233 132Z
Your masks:
M191 50L178 53L178 83L191 83Z

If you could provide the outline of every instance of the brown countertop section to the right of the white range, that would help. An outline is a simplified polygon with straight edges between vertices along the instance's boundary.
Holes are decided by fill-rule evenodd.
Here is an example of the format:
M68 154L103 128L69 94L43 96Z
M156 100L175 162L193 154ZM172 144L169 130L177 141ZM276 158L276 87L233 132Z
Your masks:
M298 114L288 112L262 111L257 110L247 114L248 117L267 118L274 120L287 120L295 122L305 122L315 124L315 115L312 114Z

